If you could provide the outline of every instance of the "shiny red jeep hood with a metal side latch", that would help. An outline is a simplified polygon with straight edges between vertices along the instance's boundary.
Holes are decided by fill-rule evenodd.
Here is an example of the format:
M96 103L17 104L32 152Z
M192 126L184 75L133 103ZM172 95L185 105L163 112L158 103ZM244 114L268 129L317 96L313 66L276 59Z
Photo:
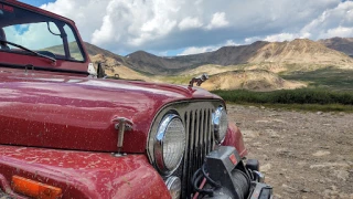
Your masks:
M165 105L217 98L201 88L145 82L0 72L0 144L117 151L117 117L132 121L122 151L143 153Z

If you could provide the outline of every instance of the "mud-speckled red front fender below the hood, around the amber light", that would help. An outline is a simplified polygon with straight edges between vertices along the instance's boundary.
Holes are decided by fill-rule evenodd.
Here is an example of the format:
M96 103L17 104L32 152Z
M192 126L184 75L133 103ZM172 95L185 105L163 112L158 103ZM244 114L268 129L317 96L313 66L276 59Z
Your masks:
M1 146L0 174L1 188L18 175L62 188L63 199L170 198L163 179L145 155L114 157L105 153Z

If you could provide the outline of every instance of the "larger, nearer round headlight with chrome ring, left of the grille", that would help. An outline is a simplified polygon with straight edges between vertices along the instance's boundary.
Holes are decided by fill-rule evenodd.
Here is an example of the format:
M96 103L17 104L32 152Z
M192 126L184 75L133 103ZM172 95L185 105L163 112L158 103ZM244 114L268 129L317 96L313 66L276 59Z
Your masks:
M154 139L154 159L163 175L173 172L180 165L185 149L185 128L175 114L163 117Z

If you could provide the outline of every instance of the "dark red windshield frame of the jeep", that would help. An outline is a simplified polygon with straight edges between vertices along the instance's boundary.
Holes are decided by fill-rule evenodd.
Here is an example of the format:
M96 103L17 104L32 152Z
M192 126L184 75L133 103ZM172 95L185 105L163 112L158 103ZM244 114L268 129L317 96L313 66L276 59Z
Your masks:
M61 17L61 15L57 15L55 13L51 13L51 12L45 11L45 10L38 9L35 7L33 7L34 9L31 9L31 6L28 6L28 4L24 4L24 3L21 3L21 2L12 3L11 1L9 2L9 1L0 0L0 6L2 6L2 7L3 6L14 7L15 9L19 9L19 10L25 10L28 12L32 12L34 14L39 14L39 15L43 15L45 18L52 19L52 22L57 21L57 22L64 23L65 25L67 25L71 29L71 31L73 33L73 36L75 39L75 42L77 43L79 53L82 54L82 60L66 59L66 57L55 57L55 60L60 60L60 61L64 61L64 62L76 62L76 63L86 63L87 62L88 57L87 57L85 49L83 48L83 45L84 45L83 42L84 41L79 38L78 30L77 30L77 28L75 27L75 23L72 20L69 20L67 18L64 18L64 17ZM26 24L26 23L23 23L23 24ZM7 27L10 27L10 25L7 25ZM6 28L6 27L3 27L3 28ZM64 42L65 42L65 40L62 39L63 48L65 45ZM67 40L66 40L66 42L67 42ZM69 42L67 42L67 45L68 44L69 44ZM39 50L32 50L32 51L36 52ZM25 51L23 51L23 52L21 52L21 51L0 51L0 53L1 52L13 53L13 54L23 54L23 55L29 55L29 56L36 56L35 54L29 53L29 52L25 52ZM66 52L65 52L64 56L66 56Z

